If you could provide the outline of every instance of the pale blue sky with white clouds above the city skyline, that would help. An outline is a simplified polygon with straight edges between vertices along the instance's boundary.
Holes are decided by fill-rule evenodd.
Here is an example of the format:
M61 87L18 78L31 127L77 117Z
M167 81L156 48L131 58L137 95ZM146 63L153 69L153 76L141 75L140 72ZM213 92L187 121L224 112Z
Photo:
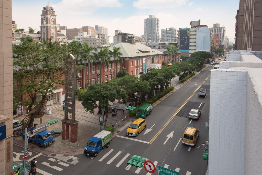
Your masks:
M49 2L57 15L57 23L68 28L101 25L114 30L144 34L144 19L148 15L160 18L161 29L190 27L190 21L201 20L201 25L220 23L226 36L234 41L236 13L239 0L12 0L12 19L18 28L31 26L40 30L43 7Z

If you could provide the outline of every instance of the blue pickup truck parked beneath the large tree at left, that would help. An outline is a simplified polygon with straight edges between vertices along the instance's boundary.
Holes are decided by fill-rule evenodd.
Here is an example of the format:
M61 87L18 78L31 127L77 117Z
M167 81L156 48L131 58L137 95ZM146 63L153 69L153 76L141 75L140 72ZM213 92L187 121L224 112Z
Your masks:
M34 128L27 129L28 132ZM22 131L22 138L25 139L25 131ZM38 147L46 147L55 141L53 134L50 131L44 130L29 137L28 142L35 143Z

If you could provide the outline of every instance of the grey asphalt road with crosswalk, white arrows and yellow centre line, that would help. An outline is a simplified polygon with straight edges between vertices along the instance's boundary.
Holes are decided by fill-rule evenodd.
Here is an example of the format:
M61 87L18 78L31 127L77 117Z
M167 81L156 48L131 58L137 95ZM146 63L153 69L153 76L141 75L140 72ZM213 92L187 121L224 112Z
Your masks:
M205 122L209 122L209 75L212 67L213 65L209 65L154 106L152 113L146 118L146 129L138 136L127 136L127 128L125 128L112 139L109 148L103 149L95 158L86 157L84 154L72 158L67 155L50 154L46 156L32 152L30 157L38 156L37 168L40 171L37 171L37 174L149 175L150 173L146 172L143 167L137 169L127 166L128 159L133 155L145 157L156 167L160 165L176 170L179 174L204 174L207 161L202 158L203 150L196 146L208 139ZM208 90L206 97L198 97L198 88ZM192 108L201 110L198 120L187 118ZM196 146L182 144L181 137L185 127L200 130ZM21 151L23 148L14 145L14 152L22 153ZM16 156L14 153L15 158ZM55 157L52 158L52 156ZM19 155L19 158L22 160L22 155ZM18 162L21 163L21 161ZM158 169L152 174L158 174Z

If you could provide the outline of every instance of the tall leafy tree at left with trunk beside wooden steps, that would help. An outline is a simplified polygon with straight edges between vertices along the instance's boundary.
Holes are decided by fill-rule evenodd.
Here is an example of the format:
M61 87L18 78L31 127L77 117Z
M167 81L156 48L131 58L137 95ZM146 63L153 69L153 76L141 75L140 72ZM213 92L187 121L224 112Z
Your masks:
M58 42L43 40L34 42L33 38L21 38L20 45L13 45L14 78L17 80L15 98L25 96L19 105L28 106L31 111L34 105L43 106L48 94L63 84L64 59L66 48ZM37 96L39 101L37 101ZM33 126L34 117L41 111L31 115L29 127Z

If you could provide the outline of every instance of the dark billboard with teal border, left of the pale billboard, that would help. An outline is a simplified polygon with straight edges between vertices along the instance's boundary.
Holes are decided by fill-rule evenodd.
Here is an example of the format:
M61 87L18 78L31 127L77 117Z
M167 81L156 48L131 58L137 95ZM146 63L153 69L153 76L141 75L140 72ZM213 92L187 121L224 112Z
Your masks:
M179 29L179 51L189 52L189 28Z

